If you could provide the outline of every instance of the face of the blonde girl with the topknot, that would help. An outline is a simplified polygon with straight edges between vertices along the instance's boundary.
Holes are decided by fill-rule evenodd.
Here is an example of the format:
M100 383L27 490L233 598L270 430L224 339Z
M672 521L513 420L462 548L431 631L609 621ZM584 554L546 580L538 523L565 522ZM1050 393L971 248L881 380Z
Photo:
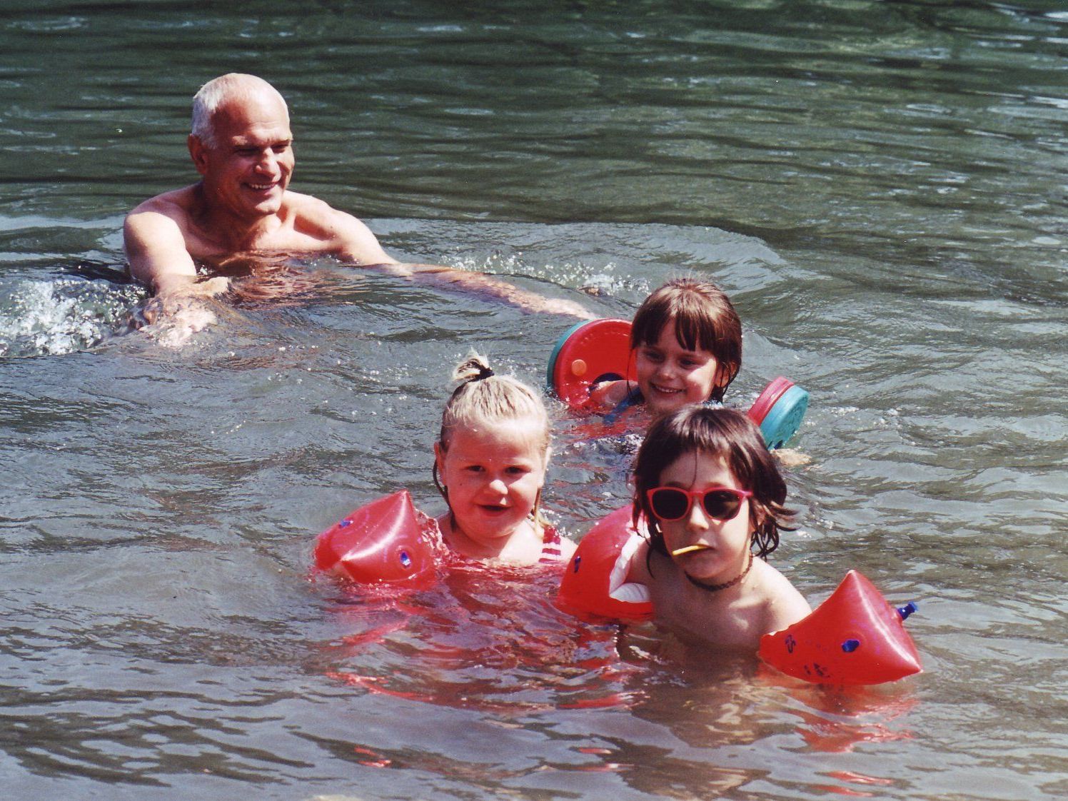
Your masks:
M455 525L468 538L503 547L530 518L545 485L544 423L517 418L452 433L435 445Z

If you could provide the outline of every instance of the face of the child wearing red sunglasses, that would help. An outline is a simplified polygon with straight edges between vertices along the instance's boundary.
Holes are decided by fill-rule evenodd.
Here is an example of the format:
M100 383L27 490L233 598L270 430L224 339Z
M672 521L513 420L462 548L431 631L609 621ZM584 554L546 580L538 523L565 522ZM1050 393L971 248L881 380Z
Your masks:
M679 456L661 471L660 486L701 492L714 487L747 489L723 458L707 451ZM691 578L717 584L729 581L745 568L753 534L749 499L741 502L738 514L729 520L708 516L696 502L681 520L661 520L659 524L669 553L687 546L704 546L672 557Z

